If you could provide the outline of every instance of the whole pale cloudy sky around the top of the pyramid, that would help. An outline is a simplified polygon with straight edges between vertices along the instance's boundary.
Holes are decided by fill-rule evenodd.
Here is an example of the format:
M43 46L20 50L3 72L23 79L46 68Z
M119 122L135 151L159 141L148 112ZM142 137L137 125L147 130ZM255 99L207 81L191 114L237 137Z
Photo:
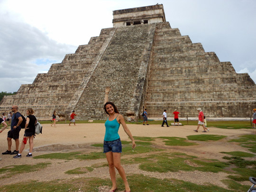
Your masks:
M0 92L18 91L112 27L112 11L163 4L179 28L256 82L256 0L0 0Z

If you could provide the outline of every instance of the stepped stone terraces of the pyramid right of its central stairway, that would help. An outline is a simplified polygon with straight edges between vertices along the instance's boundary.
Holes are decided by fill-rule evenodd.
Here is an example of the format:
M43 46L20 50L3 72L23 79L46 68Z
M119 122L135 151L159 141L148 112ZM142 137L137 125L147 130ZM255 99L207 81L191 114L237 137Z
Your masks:
M146 93L149 118L177 109L181 117L249 117L256 85L247 73L236 73L230 62L181 36L168 23L156 25ZM249 112L249 113L248 113Z

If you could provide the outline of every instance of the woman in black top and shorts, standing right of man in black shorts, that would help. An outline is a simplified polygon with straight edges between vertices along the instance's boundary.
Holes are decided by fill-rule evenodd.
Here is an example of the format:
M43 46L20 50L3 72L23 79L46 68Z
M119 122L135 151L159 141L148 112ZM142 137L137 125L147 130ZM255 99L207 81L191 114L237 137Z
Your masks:
M15 159L21 158L21 153L23 152L25 145L27 144L27 141L29 142L29 153L27 154L27 157L32 157L32 150L34 146L34 137L36 130L35 124L37 123L37 118L33 115L34 110L32 108L28 108L26 113L27 119L25 125L25 133L18 154L13 157Z

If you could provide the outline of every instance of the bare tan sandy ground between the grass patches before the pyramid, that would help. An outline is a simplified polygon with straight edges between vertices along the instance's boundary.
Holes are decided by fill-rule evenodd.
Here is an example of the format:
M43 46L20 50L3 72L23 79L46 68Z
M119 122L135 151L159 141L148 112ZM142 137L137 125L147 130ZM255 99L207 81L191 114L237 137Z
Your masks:
M43 125L43 134L37 135L34 139L34 152L33 155L41 155L52 152L69 152L75 150L82 150L86 152L91 151L102 151L102 149L91 147L91 144L102 143L105 133L104 124L73 124L68 126L68 124L56 124L55 127L51 127L49 124ZM199 129L199 132L196 133L193 129L196 126L171 126L163 128L160 125L133 125L129 124L128 128L130 129L133 136L137 137L186 137L189 135L198 135L198 134L214 134L214 135L225 135L228 136L226 140L231 138L236 138L240 135L245 134L256 134L256 129L221 129L221 128L210 128L210 132L202 133L202 128ZM7 132L9 129L6 129L0 134L0 152L5 152L7 150ZM20 141L24 134L22 129L20 132ZM129 141L128 136L124 132L122 126L119 129L119 135L121 140ZM220 154L221 151L244 151L249 152L247 148L238 146L236 143L227 143L225 139L222 141L215 142L197 142L200 145L198 146L165 146L160 139L156 139L155 145L165 147L168 151L179 151L186 153L188 155L196 155L201 158L210 158L210 159L222 159L224 154ZM15 142L12 143L12 150L15 149ZM88 161L79 161L79 160L48 160L48 159L34 159L28 158L27 149L28 145L25 147L25 151L22 153L22 158L13 159L14 155L2 155L0 154L0 167L5 167L8 165L23 165L23 164L37 164L41 162L50 162L52 163L47 168L38 173L27 173L22 174L20 177L19 174L16 174L10 180L1 179L0 185L22 182L27 180L38 180L38 181L51 181L55 179L69 179L69 178L78 178L78 177L109 177L108 168L101 167L97 170L94 170L88 174L65 174L65 171L74 169L76 167L90 166L97 163L107 163L106 159L98 160L88 160ZM141 156L146 154L141 154ZM122 158L129 157L129 155L122 155ZM222 159L223 160L223 159ZM221 179L225 179L227 174L225 173L202 173L202 172L178 172L178 173L165 173L165 174L153 174L138 169L138 165L125 165L124 166L127 174L145 174L157 178L176 178L184 181L190 181L193 183L202 184L205 181L212 181L211 183L217 184L221 187L226 187L223 183L220 182ZM203 176L202 176L203 175ZM214 179L211 179L214 178ZM218 179L216 179L218 178ZM205 180L206 179L206 180ZM250 185L250 183L247 183ZM104 190L101 192L105 192Z

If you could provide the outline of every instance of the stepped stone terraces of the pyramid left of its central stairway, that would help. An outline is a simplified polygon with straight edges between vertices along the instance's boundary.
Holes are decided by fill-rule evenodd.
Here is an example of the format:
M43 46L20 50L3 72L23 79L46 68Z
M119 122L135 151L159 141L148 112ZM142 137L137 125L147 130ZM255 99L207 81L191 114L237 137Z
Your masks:
M65 55L62 63L52 64L48 73L37 74L32 84L23 84L16 95L4 97L0 111L9 111L16 104L23 114L27 108L33 108L38 119L50 119L53 110L63 114L109 32L109 29L102 29L100 36L91 37L88 45Z

